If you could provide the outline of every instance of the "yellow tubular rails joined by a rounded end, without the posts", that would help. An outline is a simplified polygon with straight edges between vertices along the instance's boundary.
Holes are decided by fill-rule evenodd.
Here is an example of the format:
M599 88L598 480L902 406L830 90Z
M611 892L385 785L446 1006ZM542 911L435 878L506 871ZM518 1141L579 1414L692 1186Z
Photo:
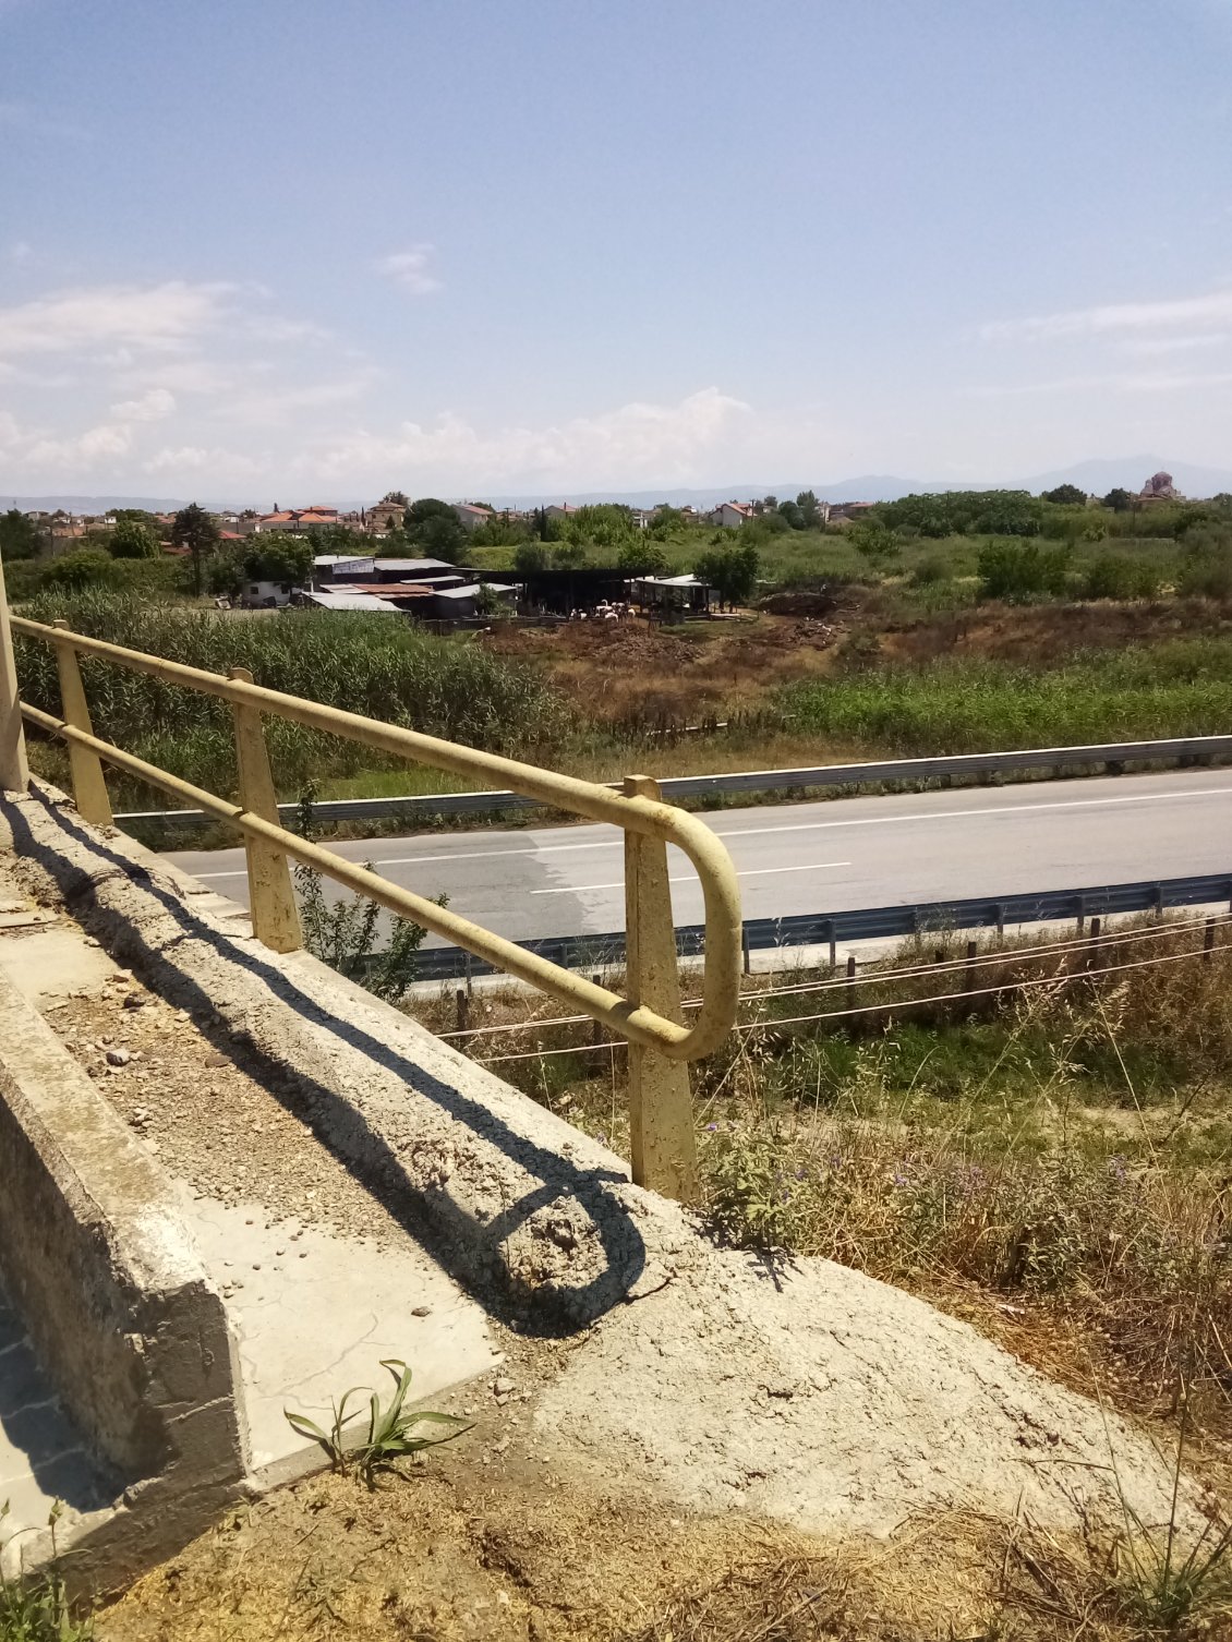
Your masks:
M468 951L476 952L476 956L491 961L496 967L522 980L529 980L532 985L557 997L572 998L588 1013L605 1020L614 1031L637 1043L659 1048L673 1059L695 1059L718 1048L726 1036L734 1020L736 998L739 995L739 885L736 882L736 869L719 839L703 821L687 811L660 803L655 798L618 793L608 787L583 782L572 775L559 775L550 770L540 770L536 765L521 764L516 759L462 747L435 736L425 736L421 731L381 724L358 713L329 708L317 701L306 701L281 690L266 690L261 685L246 683L240 678L225 678L222 673L186 667L182 662L128 650L123 645L90 639L67 627L48 627L43 622L25 617L13 617L13 627L26 637L57 647L71 647L74 652L80 650L87 655L97 655L133 672L148 673L154 678L164 678L169 683L179 683L204 695L217 696L233 706L256 708L263 713L304 724L309 729L329 731L335 736L345 736L352 741L379 747L398 757L430 764L462 775L473 775L476 772L491 773L504 780L514 791L522 791L550 806L588 816L593 821L606 821L624 831L677 844L696 869L706 911L705 1003L690 1030L662 1018L649 1008L634 1007L605 987L595 987L591 982L585 982L582 977L559 969L555 964L527 952L513 941L504 941L501 936L471 924L457 913L437 906L435 901L412 895L409 890L389 883L378 874L356 867L342 855L289 832L274 821L264 821L261 816L241 810L238 805L217 798L214 793L204 791L166 770L159 770L156 765L146 764L135 754L113 747L110 742L69 724L66 719L57 719L49 713L21 703L23 716L39 726L39 729L66 739L71 745L87 747L118 768L136 775L140 780L159 787L177 798L187 798L209 814L232 821L245 834L263 837L292 859L338 878L356 890L356 893L371 897L394 913L414 918L437 934L444 934Z

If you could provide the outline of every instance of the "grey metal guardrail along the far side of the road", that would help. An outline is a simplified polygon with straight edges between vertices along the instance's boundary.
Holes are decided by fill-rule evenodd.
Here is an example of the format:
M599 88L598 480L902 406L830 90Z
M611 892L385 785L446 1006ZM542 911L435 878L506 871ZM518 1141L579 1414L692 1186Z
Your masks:
M884 782L926 785L935 780L981 780L1027 770L1078 770L1125 764L1168 764L1175 759L1209 764L1232 759L1232 736L1178 736L1165 741L1119 741L1091 747L1027 747L1018 752L961 752L941 759L882 759L876 764L823 764L803 770L741 770L731 775L673 775L659 782L665 800L723 796L726 793L808 791L826 787L866 787ZM611 788L618 790L618 788ZM294 819L297 805L279 805ZM435 816L498 814L542 810L537 798L517 791L429 793L404 798L329 798L314 803L317 821L406 821L421 824ZM140 810L117 816L125 824L159 828L200 826L200 810Z

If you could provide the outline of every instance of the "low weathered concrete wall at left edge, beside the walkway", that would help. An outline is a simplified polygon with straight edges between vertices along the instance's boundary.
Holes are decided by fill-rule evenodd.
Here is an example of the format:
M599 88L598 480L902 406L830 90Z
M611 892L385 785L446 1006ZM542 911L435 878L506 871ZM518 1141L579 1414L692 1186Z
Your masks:
M0 1276L87 1442L171 1507L245 1473L235 1348L169 1187L0 977ZM145 1501L146 1507L151 1501ZM156 1532L159 1512L145 1509Z

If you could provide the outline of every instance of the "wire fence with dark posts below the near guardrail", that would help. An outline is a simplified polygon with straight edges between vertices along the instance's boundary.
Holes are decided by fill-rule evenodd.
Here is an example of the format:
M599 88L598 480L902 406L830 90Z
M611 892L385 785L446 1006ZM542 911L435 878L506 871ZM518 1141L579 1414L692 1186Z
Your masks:
M1074 982L1092 982L1106 979L1109 975L1125 974L1135 969L1150 969L1161 964L1176 964L1193 959L1211 961L1216 956L1227 956L1232 946L1221 944L1217 936L1219 931L1232 924L1232 913L1211 915L1204 918L1181 918L1173 923L1160 923L1147 929L1102 929L1099 920L1091 920L1091 931L1081 936L1073 936L1060 941L1041 943L1040 946L1028 947L1012 947L1012 949L992 949L992 951L972 951L974 943L968 944L968 951L959 957L941 957L931 962L913 962L905 965L897 965L890 969L877 969L866 974L854 974L851 969L846 974L828 975L820 980L805 980L784 987L757 987L754 990L744 992L741 995L741 1007L764 1008L779 998L803 997L803 995L825 995L825 993L843 993L844 1003L836 1010L816 1010L808 1015L787 1015L787 1016L765 1016L761 1020L738 1021L733 1028L736 1036L749 1036L754 1033L774 1033L784 1028L800 1028L816 1023L843 1023L849 1020L866 1018L871 1015L897 1013L902 1010L915 1010L925 1007L936 1007L946 1003L969 1003L979 998L1005 997L1014 993L1030 992L1040 987L1056 987L1063 988L1073 985ZM1194 946L1184 952L1153 952L1147 957L1133 957L1127 962L1109 964L1106 959L1109 956L1119 957L1127 947L1143 946L1160 941L1173 941L1178 936L1186 934L1202 934L1202 944ZM1081 967L1068 967L1073 957L1081 957ZM1048 975L1012 975L999 977L991 985L976 985L982 980L991 969L1007 965L1023 967L1038 962L1055 961L1058 969ZM963 977L963 985L958 990L946 992L930 992L925 997L908 997L908 998L887 998L876 1003L854 1003L853 997L859 988L866 987L895 987L910 980L935 980L945 975ZM696 998L688 998L682 1005L683 1008L696 1008ZM457 1031L440 1033L439 1036L447 1041L455 1041L460 1046L470 1044L473 1039L483 1039L499 1034L516 1034L516 1033L542 1033L547 1030L563 1028L563 1026L593 1026L593 1021L586 1015L559 1015L545 1020L522 1020L522 1021L498 1021L473 1028L460 1028ZM624 1041L616 1039L600 1039L588 1043L562 1044L552 1048L536 1048L526 1051L514 1051L509 1054L494 1056L475 1056L481 1066L508 1066L517 1061L540 1061L555 1056L567 1054L595 1054L596 1051L608 1051L611 1056L618 1049L624 1049Z

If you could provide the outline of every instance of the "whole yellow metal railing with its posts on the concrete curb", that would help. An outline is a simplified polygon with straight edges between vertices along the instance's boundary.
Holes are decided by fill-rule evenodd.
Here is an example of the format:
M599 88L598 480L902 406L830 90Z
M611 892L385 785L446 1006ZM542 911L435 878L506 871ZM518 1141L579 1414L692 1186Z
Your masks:
M3 612L2 583L0 612ZM646 775L627 777L624 791L618 793L572 775L557 775L514 759L422 736L419 731L381 724L358 713L322 706L279 690L264 690L253 683L243 668L233 668L223 678L222 673L184 667L158 655L71 632L64 622L48 627L16 616L10 621L13 631L53 645L59 668L62 718L43 713L25 701L18 703L15 691L8 718L16 719L20 708L20 716L26 722L67 742L74 798L87 821L97 826L112 824L103 764L113 765L240 829L248 857L253 931L274 951L291 952L302 946L289 857L335 878L356 895L371 897L393 913L412 918L517 980L591 1015L629 1041L634 1181L687 1202L696 1197L696 1153L685 1062L710 1054L726 1038L736 1015L741 977L741 908L736 872L726 849L703 821L662 803L657 783ZM0 616L0 649L7 649L5 639ZM79 655L100 657L130 672L149 673L166 683L228 701L235 716L240 803L217 798L97 737L90 722ZM0 657L0 696L7 693L7 680L15 677L11 658L8 672L3 670L3 660ZM11 685L8 690L11 691ZM0 701L0 719L5 718L3 709L5 703ZM590 821L606 821L621 828L627 995L621 997L583 975L575 975L281 826L263 714L329 731L332 736L345 736L439 770L483 777L493 785L524 793L554 810L567 810ZM0 731L5 731L5 724L0 724ZM8 741L13 739L11 727L5 734ZM5 768L10 772L7 785L25 785L18 764L15 757L7 759ZM688 1028L682 1025L680 1011L675 924L667 874L669 844L678 846L693 862L706 910L701 1007Z

